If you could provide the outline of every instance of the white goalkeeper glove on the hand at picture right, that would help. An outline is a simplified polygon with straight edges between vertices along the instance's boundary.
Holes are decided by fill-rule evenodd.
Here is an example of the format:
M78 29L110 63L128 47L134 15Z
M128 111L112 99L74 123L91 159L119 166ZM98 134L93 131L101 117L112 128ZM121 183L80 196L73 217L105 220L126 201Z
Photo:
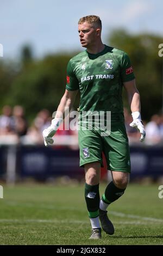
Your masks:
M141 120L141 114L139 111L135 111L131 113L131 115L133 117L133 121L130 123L130 126L135 127L141 133L140 141L143 142L146 137L146 131Z

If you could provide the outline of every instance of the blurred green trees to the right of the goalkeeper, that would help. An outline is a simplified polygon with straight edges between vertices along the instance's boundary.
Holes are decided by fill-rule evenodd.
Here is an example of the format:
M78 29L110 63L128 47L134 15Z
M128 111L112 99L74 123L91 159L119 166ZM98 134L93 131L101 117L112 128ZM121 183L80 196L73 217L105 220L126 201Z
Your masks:
M163 38L151 34L133 35L119 29L112 32L108 40L110 46L129 54L141 95L142 117L149 120L162 105L162 59L158 56L158 46ZM125 97L125 105L126 102Z

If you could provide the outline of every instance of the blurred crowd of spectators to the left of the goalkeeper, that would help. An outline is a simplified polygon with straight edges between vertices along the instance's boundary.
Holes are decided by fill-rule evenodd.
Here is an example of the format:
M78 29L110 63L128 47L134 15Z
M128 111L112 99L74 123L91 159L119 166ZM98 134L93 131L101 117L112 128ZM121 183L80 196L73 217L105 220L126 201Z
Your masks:
M22 106L14 106L11 108L6 105L2 109L0 115L0 144L43 144L42 131L51 125L52 115L48 109L41 109L36 117L29 125L26 114ZM71 129L64 129L61 127L55 134L55 137L62 137L62 140L57 140L57 147L59 144L68 144L65 141L65 136L73 136L74 142L70 142L70 147L73 149L78 148L77 144L77 131Z

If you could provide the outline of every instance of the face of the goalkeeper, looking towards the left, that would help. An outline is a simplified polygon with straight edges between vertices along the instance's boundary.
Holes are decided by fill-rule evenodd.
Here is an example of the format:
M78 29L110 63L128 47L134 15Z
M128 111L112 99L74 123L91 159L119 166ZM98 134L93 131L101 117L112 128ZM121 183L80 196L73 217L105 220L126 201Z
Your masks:
M98 30L99 29L94 28L92 24L89 24L87 22L78 25L80 42L83 47L88 48L91 45L95 44Z

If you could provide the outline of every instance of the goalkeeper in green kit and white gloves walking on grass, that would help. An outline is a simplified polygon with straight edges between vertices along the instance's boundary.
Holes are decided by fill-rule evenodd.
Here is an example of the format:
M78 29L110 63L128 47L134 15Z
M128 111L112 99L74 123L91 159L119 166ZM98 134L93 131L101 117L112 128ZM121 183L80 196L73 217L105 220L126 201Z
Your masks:
M85 169L85 200L92 227L90 239L101 239L102 229L106 234L114 234L114 225L109 220L106 209L123 195L129 181L130 155L124 126L123 88L126 89L133 117L130 126L140 131L141 142L145 139L140 95L135 86L130 59L127 53L104 45L101 31L102 24L98 16L90 15L79 20L79 39L86 50L68 62L65 94L51 126L43 131L45 145L52 144L52 137L62 122L65 108L71 109L78 90L80 117L83 112L111 112L111 130L108 136L102 136L100 127L97 130L92 125L92 129L86 129L87 126L79 121L80 166ZM107 115L105 117L107 119ZM106 186L100 199L102 151L108 170L112 172L112 181Z

